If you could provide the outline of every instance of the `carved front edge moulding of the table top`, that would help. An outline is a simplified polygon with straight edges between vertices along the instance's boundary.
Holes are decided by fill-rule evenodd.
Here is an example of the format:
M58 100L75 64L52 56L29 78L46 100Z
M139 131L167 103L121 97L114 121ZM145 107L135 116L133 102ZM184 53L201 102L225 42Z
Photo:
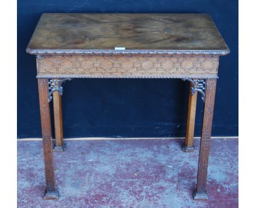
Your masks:
M48 49L26 49L27 53L33 55L105 55L105 54L137 54L137 55L195 55L195 56L225 56L230 53L226 50L48 50Z

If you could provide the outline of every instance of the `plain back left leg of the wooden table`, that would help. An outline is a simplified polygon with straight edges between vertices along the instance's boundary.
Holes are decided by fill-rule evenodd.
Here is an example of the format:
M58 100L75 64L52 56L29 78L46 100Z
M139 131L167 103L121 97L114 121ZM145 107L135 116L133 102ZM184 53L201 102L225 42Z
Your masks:
M54 130L55 130L54 151L62 152L66 149L66 144L63 142L61 95L59 91L54 91L53 93L53 106L54 106Z

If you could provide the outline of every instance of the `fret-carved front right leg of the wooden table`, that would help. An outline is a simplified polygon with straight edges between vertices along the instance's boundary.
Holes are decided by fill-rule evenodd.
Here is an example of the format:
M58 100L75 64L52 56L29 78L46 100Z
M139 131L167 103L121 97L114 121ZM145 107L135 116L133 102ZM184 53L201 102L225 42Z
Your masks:
M208 156L210 151L210 138L212 132L212 119L217 79L206 79L205 105L203 111L202 134L199 151L199 165L197 172L197 185L193 193L194 199L208 199L206 191L206 178Z

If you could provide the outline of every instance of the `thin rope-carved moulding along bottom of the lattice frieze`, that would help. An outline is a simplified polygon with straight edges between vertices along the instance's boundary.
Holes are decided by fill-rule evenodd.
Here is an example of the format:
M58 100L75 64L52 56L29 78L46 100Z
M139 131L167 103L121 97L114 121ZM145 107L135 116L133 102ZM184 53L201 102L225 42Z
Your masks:
M112 76L112 75L37 75L36 78L179 78L179 79L217 79L219 78L217 75L213 76L130 76L130 75L123 75L123 76Z

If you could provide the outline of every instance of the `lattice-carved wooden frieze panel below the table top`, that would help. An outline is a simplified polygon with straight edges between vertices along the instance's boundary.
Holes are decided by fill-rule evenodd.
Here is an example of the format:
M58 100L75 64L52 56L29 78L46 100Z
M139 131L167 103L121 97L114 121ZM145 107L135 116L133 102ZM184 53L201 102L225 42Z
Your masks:
M218 56L43 56L38 77L217 78Z

